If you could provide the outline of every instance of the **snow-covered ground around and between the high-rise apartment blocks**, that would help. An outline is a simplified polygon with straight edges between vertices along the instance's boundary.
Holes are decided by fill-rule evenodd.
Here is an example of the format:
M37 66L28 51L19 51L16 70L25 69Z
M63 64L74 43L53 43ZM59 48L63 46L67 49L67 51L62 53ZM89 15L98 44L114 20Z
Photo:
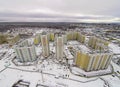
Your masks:
M50 43L50 51L55 52L53 44ZM114 53L120 53L120 48L115 44L110 44L109 47ZM40 59L40 62L31 66L16 66L12 63L15 56L13 49L1 48L0 52L2 50L7 53L0 60L0 87L12 87L18 80L30 82L30 87L36 87L37 84L49 87L105 87L105 84L108 84L110 87L120 87L120 78L115 73L113 73L114 77L112 75L92 78L77 76L70 72L67 65L56 62L54 57ZM37 55L42 53L41 46L36 46L36 52ZM69 52L66 51L66 54ZM113 62L111 64L114 72L120 71L117 64Z

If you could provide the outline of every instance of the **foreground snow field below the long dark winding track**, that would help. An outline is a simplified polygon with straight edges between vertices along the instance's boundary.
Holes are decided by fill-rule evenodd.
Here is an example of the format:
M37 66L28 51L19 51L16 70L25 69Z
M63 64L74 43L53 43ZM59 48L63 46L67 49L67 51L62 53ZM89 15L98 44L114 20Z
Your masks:
M59 87L59 86L55 86L57 84L64 84L67 85L68 87L74 87L74 86L93 87L94 84L97 85L97 87L103 87L103 82L100 79L87 83L80 83L69 79L63 79L63 78L56 79L54 78L54 76L43 75L44 81L42 81L42 76L40 73L23 72L14 69L7 69L4 73L0 74L0 83L2 87L11 87L13 83L21 79L30 82L30 87L35 87L37 83L45 84L48 85L49 87Z

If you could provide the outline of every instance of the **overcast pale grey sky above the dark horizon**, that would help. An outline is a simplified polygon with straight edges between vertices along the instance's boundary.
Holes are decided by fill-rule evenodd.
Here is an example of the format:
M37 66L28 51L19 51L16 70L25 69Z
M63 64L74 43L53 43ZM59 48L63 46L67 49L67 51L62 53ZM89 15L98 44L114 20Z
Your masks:
M120 22L120 0L0 0L0 21Z

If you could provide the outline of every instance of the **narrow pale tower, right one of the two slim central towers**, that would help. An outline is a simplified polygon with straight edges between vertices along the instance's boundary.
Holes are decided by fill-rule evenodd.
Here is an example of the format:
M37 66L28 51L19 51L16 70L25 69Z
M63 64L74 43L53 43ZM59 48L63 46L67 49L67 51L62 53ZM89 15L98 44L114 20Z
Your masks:
M58 60L63 59L64 39L63 37L56 38L56 57Z

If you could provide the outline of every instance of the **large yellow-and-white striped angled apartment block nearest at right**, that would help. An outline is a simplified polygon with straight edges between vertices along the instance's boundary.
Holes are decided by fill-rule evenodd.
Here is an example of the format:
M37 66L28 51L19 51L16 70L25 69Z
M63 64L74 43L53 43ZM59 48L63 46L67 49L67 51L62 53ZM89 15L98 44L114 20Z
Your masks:
M76 51L75 64L85 71L107 69L110 64L112 53L85 53Z

